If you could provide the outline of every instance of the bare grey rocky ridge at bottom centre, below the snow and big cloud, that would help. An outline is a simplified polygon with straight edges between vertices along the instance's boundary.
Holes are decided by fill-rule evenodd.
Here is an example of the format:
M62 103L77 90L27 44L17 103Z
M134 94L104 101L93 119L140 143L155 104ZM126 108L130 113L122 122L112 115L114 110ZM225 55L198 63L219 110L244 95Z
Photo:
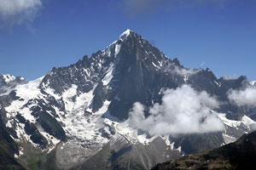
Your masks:
M151 144L143 145L130 144L119 136L77 169L148 169L157 162L176 159L180 156L178 150L168 149L161 138L154 139Z

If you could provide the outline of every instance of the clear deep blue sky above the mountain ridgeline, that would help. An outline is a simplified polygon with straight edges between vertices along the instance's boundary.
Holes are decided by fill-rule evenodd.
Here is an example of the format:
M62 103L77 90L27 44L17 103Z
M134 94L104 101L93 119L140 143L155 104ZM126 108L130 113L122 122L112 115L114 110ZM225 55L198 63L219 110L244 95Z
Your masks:
M19 1L0 1L0 74L42 77L129 28L185 67L256 79L254 0Z

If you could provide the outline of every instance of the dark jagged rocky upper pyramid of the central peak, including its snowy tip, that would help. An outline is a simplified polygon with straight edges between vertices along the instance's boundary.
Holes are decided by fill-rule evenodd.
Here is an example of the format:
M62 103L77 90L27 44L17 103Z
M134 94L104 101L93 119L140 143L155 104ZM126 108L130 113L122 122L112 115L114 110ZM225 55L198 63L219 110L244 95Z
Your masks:
M183 70L188 74L180 75L183 73L178 71ZM184 83L184 76L189 77L189 74L177 59L172 61L143 37L127 30L108 48L92 54L89 59L84 56L75 65L49 71L40 88L55 89L60 95L72 85L78 86L79 93L95 88L91 111L98 111L107 99L110 115L125 120L133 103L141 101L151 105L152 101L160 99L157 95L160 88L175 88Z

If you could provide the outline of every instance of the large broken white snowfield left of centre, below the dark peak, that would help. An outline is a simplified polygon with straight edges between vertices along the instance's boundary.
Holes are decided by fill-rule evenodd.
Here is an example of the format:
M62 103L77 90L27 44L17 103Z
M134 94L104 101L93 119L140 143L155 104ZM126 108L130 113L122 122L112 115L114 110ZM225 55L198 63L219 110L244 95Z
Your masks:
M108 127L104 126L102 115L108 111L110 102L106 100L99 111L92 113L90 104L93 99L93 91L80 94L73 101L73 96L76 94L76 86L73 85L67 92L63 94L65 107L67 107L66 118L62 118L61 122L65 124L63 127L67 136L76 143L88 142L90 144L106 144L109 139L102 137L101 129L108 133ZM84 111L88 111L85 114Z

